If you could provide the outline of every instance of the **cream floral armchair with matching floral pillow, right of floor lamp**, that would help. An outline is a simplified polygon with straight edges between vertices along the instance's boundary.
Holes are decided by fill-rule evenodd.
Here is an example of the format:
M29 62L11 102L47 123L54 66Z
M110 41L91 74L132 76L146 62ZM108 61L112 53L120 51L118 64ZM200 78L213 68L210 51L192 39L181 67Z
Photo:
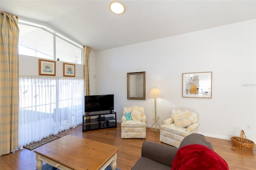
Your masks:
M198 132L198 122L198 113L188 109L172 109L171 117L160 126L160 141L178 148L186 136Z

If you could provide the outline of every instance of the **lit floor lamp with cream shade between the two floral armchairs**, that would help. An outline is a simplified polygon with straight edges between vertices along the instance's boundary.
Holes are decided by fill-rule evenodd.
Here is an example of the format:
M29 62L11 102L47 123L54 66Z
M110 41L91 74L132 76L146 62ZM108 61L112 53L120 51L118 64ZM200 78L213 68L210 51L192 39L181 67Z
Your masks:
M151 128L152 131L156 132L156 134L157 134L157 132L158 132L160 129L159 129L159 128L156 128L156 124L158 125L158 127L160 127L160 126L159 126L159 124L157 123L158 120L159 120L159 118L156 117L156 98L160 98L160 97L162 97L162 95L161 95L159 89L156 88L156 87L154 87L153 89L150 90L150 93L149 93L148 97L154 98L154 104L155 104L155 119L153 119L154 123L153 123L153 125L150 126L150 128ZM154 125L155 125L155 126L154 126Z

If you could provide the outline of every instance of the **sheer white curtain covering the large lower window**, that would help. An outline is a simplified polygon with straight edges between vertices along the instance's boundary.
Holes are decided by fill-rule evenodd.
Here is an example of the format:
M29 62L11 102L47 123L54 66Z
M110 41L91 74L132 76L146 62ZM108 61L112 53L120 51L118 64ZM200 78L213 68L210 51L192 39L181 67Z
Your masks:
M84 79L20 76L19 147L82 124Z

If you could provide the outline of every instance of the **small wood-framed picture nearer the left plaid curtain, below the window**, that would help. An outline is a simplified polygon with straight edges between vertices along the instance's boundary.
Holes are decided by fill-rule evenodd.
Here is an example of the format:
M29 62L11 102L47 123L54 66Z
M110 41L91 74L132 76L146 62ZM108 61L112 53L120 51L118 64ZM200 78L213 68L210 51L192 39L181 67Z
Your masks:
M56 75L56 61L39 59L39 75Z

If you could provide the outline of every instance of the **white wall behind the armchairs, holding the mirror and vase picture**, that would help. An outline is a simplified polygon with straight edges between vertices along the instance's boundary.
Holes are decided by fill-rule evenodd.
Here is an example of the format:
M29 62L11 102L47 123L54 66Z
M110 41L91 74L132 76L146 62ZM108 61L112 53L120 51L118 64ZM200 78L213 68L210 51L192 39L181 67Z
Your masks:
M171 109L187 108L200 114L201 134L230 139L244 129L256 141L255 25L249 20L92 52L91 94L114 94L118 121L123 107L144 106L150 126L154 101L147 96L156 86L163 96L157 99L160 125ZM126 73L137 71L146 71L146 100L127 99ZM202 71L212 71L212 99L182 98L182 73Z

